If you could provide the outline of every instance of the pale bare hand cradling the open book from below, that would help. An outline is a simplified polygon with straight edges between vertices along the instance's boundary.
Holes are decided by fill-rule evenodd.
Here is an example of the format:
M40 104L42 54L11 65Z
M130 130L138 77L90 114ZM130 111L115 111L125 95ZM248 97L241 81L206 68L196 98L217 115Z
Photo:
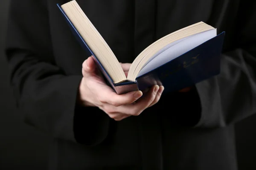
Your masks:
M84 106L100 108L116 121L140 115L146 108L159 101L164 89L163 86L154 85L142 98L142 91L118 95L106 85L92 57L83 62L82 74L79 102Z

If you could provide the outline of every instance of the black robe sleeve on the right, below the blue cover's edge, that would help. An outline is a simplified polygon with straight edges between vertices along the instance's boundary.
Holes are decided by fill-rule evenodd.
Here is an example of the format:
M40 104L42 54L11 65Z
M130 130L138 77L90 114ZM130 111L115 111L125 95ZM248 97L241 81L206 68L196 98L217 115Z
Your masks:
M221 56L221 73L196 85L201 116L195 127L224 127L256 113L256 3L251 2L241 3L235 43Z

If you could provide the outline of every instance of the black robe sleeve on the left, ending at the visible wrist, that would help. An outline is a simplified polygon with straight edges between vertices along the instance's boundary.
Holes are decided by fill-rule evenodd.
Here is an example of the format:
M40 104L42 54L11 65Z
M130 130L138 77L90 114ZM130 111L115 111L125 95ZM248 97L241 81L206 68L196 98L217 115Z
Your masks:
M98 144L110 119L98 108L77 104L82 75L67 75L56 65L46 3L10 4L5 52L17 107L27 124L55 138Z

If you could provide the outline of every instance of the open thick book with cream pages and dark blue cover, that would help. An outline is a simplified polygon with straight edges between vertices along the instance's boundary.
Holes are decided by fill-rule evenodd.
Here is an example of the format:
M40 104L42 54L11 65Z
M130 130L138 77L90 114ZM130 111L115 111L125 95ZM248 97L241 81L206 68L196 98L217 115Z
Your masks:
M128 76L113 51L76 0L57 4L82 47L93 59L117 94L163 85L177 91L220 73L225 32L198 22L155 41L131 63Z

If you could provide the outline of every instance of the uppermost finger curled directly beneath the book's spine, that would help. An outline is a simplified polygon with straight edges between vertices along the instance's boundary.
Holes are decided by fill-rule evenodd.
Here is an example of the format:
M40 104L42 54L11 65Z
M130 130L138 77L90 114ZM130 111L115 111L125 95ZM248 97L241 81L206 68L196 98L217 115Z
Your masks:
M113 89L106 88L106 90L102 90L98 96L98 99L102 103L108 103L113 106L127 105L135 102L142 96L141 91L131 91L126 94L116 94Z

